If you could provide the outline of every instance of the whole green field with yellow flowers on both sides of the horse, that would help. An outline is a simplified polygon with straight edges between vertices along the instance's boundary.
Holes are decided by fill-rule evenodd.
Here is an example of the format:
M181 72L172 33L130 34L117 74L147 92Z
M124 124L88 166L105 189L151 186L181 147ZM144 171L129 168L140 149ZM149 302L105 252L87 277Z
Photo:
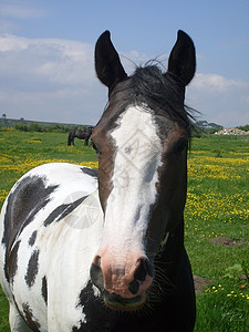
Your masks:
M195 276L209 286L197 295L196 332L249 331L249 137L194 138L188 156L185 242ZM49 162L97 167L81 141L66 134L0 132L0 204L17 179ZM229 238L229 246L210 240ZM183 299L184 301L184 299ZM0 332L9 331L8 303L0 291Z

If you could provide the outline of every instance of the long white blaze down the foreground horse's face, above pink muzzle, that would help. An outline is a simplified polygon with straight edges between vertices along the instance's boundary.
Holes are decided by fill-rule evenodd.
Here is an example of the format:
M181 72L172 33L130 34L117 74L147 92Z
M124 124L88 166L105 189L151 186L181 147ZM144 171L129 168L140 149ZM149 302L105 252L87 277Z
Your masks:
M111 133L116 155L113 189L107 199L102 250L117 260L129 252L143 253L149 208L156 203L162 142L152 112L129 106ZM115 259L115 258L114 258Z

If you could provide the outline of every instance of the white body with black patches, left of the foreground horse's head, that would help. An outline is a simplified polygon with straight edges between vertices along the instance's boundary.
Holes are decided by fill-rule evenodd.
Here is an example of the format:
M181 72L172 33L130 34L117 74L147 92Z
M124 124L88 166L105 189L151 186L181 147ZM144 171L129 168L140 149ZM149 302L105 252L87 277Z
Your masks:
M34 331L81 326L84 290L98 295L90 268L102 215L94 169L46 164L14 185L0 220L0 279L11 331L28 331L23 319Z

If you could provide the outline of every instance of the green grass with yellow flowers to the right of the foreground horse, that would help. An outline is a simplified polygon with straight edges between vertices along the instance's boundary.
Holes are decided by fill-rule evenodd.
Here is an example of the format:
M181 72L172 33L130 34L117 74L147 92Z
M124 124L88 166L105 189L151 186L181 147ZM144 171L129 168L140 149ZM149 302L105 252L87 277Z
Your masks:
M214 280L197 295L196 332L249 331L249 141L196 138L188 157L185 243L195 276ZM228 237L239 246L209 240ZM247 264L225 278L227 269Z

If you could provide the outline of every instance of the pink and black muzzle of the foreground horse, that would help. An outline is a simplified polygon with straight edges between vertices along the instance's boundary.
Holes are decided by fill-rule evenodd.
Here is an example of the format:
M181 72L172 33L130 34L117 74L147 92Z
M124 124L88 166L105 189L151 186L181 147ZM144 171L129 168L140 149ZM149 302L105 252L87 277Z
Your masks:
M107 307L133 311L145 303L146 291L153 282L153 271L151 262L144 257L138 258L134 264L123 266L107 263L96 256L90 273Z

